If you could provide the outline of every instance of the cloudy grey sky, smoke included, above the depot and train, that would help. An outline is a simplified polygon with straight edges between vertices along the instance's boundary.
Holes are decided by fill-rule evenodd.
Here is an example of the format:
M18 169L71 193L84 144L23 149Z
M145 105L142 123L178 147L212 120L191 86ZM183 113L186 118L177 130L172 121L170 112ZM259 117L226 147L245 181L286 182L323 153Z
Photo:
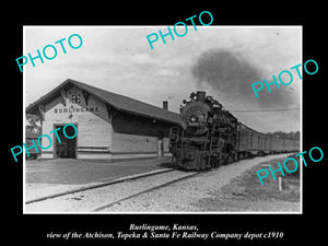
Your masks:
M173 30L174 24L167 26ZM72 79L159 107L168 101L168 109L176 113L191 92L206 91L257 131L300 130L300 109L254 110L301 107L302 80L291 70L302 62L301 26L199 24L195 31L190 25L185 36L174 35L174 40L166 36L166 44L160 37L151 49L147 35L159 35L159 30L165 34L167 26L24 26L24 56L35 57L46 45L54 45L58 52L52 60L36 59L35 67L31 61L24 66L25 106ZM78 49L67 43L72 34L82 37ZM67 54L55 45L62 38ZM272 75L278 80L283 70L292 73L293 82L279 90L273 84L271 93L263 86L256 98L251 84L272 82ZM282 80L288 82L285 75Z

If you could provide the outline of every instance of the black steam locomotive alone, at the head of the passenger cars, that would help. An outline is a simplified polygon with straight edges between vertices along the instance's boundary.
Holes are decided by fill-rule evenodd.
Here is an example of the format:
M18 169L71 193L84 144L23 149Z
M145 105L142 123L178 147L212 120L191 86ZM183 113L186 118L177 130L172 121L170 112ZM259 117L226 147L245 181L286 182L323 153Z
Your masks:
M238 120L206 92L190 94L180 112L180 128L172 128L173 162L186 169L206 169L233 161L237 154Z

